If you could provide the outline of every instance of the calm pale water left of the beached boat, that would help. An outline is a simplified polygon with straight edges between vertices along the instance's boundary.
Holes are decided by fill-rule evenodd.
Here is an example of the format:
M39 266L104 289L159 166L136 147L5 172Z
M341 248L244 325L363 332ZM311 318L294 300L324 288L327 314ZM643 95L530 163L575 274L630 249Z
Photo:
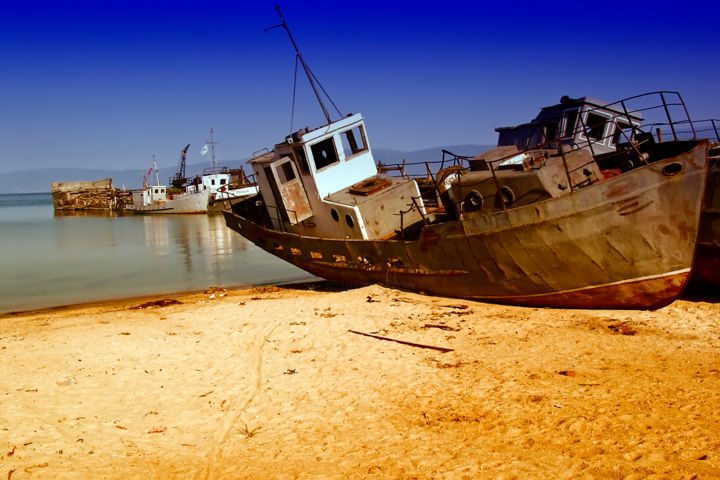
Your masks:
M58 215L49 193L0 195L0 248L0 313L314 278L222 215Z

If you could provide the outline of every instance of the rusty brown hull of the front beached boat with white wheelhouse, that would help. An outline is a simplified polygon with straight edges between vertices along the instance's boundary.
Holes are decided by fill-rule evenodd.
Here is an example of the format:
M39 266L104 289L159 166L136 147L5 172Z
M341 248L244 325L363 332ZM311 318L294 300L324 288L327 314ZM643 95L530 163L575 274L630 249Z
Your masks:
M669 158L570 195L425 225L414 240L307 237L223 213L261 248L348 285L527 306L654 309L683 291L693 265L708 142L681 143ZM675 163L679 172L665 168Z

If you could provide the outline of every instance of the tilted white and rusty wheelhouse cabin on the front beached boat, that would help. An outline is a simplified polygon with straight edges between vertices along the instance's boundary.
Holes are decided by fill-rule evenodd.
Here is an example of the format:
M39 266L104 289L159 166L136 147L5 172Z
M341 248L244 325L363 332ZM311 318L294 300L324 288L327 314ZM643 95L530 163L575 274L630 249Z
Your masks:
M272 152L250 160L273 226L327 238L383 238L400 227L413 198L424 213L414 180L378 174L363 117L293 133ZM406 212L405 225L421 220Z

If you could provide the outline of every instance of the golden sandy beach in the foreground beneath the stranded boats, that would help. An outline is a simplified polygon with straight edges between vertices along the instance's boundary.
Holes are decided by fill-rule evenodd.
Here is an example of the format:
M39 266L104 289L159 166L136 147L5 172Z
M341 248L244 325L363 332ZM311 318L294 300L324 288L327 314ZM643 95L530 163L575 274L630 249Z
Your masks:
M211 289L2 315L0 360L3 480L720 478L720 303Z

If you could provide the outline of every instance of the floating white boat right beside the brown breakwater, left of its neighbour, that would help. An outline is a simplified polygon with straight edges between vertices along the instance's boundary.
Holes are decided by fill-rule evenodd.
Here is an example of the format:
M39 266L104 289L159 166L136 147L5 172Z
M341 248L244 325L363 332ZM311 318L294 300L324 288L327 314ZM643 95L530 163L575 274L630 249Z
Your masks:
M173 188L171 193L165 185L160 185L157 162L153 156L155 185L148 185L147 176L143 176L143 188L133 190L132 204L126 210L141 214L169 213L206 213L210 192L199 189L197 185ZM178 191L179 190L179 191Z

